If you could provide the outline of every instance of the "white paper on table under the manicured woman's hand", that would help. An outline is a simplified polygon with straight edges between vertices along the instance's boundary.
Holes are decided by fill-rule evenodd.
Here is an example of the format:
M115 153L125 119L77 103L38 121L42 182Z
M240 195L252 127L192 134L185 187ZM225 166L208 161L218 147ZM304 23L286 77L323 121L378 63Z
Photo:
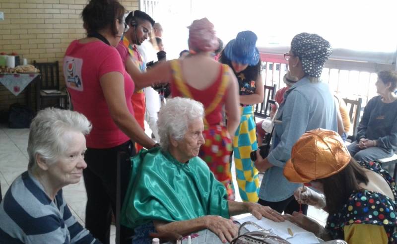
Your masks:
M300 228L297 225L292 224L288 220L284 222L274 222L272 220L266 219L263 217L262 219L257 219L255 216L251 215L245 218L241 218L237 220L240 224L251 221L259 226L263 227L264 229L274 233L275 235L287 240L291 244L314 244L319 243L317 237L308 231ZM257 228L254 226L245 226L249 231L258 231ZM291 229L293 236L288 233L288 228Z

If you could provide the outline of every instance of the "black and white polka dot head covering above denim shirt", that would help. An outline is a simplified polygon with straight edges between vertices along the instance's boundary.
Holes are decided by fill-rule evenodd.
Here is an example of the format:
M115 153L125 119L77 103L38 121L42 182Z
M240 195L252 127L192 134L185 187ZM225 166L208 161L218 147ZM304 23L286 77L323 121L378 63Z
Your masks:
M291 51L299 57L306 74L320 77L332 48L331 44L321 36L304 32L292 39Z

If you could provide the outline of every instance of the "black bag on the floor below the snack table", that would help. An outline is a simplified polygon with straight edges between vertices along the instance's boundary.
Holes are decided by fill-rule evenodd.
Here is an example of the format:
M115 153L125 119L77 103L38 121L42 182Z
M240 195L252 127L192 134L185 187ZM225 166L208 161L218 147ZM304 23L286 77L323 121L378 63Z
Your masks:
M33 119L33 112L25 105L18 103L11 104L8 112L8 127L29 128Z

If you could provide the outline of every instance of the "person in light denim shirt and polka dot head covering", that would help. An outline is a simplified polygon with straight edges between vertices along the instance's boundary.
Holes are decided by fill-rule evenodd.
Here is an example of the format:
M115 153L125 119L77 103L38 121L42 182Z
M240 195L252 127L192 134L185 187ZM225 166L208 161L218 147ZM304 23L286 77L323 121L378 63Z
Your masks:
M328 84L321 82L324 63L331 55L330 43L317 34L301 33L291 41L289 53L284 54L289 71L299 80L284 94L284 102L276 114L273 148L263 159L257 152L255 166L265 172L259 203L278 212L303 210L294 199L294 191L301 184L290 183L283 176L283 168L291 158L294 143L305 131L324 128L337 131L337 108Z

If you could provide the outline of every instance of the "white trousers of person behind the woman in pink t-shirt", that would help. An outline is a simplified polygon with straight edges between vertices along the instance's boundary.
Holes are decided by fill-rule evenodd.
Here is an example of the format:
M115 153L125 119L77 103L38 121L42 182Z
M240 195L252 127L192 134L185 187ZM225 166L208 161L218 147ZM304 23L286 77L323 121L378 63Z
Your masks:
M146 113L145 120L153 132L156 141L159 141L157 119L161 107L160 95L151 87L145 88Z

